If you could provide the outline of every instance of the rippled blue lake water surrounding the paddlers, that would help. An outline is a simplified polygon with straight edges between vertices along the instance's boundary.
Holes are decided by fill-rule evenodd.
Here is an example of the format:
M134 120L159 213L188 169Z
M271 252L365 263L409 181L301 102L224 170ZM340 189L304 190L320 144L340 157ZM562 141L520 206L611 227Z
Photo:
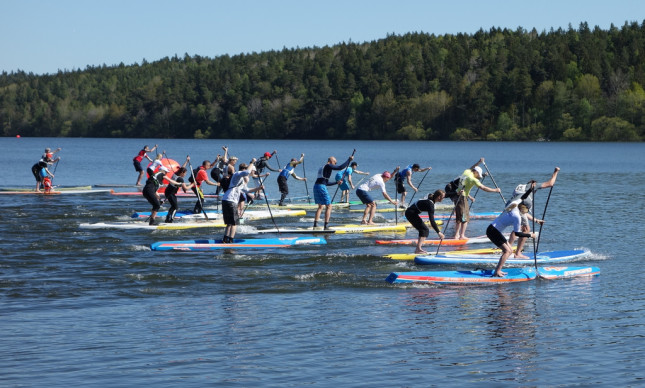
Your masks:
M0 187L34 186L30 167L45 147L62 147L55 184L133 184L132 157L155 143L180 162L190 154L193 167L222 145L241 161L275 149L285 164L304 152L311 182L327 157L342 161L356 149L358 169L371 173L432 166L423 193L482 156L506 197L559 166L540 250L590 249L573 265L601 274L483 287L391 285L390 272L429 270L381 257L413 249L374 244L402 234L332 235L326 246L275 251L153 252L152 242L221 230L79 228L149 210L139 196L0 196L0 385L645 383L645 144L0 138ZM267 180L269 197L278 196L276 176ZM289 183L291 195L306 193L302 182ZM388 190L393 195L392 183ZM547 193L536 196L540 216ZM192 204L180 199L182 208ZM481 192L473 210L501 207L498 194ZM332 224L360 216L334 210ZM310 226L312 219L309 212L276 222ZM376 221L393 220L380 213ZM468 234L483 234L488 223L472 221ZM271 221L249 222L238 237L263 226Z

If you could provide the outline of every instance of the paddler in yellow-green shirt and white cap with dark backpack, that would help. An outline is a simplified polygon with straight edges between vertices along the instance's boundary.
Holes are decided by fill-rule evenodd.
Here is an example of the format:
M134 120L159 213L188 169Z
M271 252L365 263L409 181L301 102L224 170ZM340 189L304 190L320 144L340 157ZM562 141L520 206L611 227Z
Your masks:
M475 202L475 198L470 196L470 190L477 186L489 193L501 193L500 188L493 189L480 182L484 177L482 169L479 167L481 163L484 163L484 158L479 159L468 170L464 170L459 178L446 185L446 196L455 204L455 240L466 239L466 227L470 221L468 199Z

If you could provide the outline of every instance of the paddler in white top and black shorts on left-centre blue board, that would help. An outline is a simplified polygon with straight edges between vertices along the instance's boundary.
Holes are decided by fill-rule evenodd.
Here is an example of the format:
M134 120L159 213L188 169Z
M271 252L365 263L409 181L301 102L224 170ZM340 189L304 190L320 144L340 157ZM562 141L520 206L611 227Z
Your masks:
M235 237L235 232L237 230L237 225L240 224L238 202L240 201L240 196L242 195L242 193L253 193L264 189L263 185L254 187L252 189L245 189L246 181L244 178L251 175L251 173L255 170L253 162L255 162L255 159L253 159L248 165L244 163L240 164L240 171L233 174L229 188L228 190L226 190L226 193L224 193L224 196L222 197L222 215L224 218L224 223L226 224L222 242L225 244L233 242L233 238Z

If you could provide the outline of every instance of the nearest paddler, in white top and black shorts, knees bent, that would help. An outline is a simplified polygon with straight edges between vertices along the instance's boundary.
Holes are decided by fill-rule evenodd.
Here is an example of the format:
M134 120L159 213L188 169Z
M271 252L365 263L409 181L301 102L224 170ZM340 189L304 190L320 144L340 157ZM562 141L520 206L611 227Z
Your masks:
M522 214L528 213L528 208L522 203L531 192L535 190L535 181L531 183L530 189L522 195L520 199L512 201L511 204L504 209L502 214L500 214L495 221L491 222L486 228L486 237L495 244L496 247L502 250L502 256L497 262L497 267L495 267L495 272L493 276L503 277L506 275L505 272L502 272L502 267L506 262L506 259L513 253L513 247L504 237L504 229L509 226L513 227L511 236L515 234L517 237L532 237L535 238L535 233L524 233L522 232ZM542 223L542 220L536 220L538 223Z

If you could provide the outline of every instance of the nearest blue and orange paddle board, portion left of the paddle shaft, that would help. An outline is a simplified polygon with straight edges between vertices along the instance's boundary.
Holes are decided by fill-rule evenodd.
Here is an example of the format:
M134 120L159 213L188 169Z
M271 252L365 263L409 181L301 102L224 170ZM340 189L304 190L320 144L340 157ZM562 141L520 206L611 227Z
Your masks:
M506 276L493 276L494 270L475 271L420 271L392 272L385 280L390 283L438 283L438 284L495 284L516 283L533 280L535 268L508 268Z

